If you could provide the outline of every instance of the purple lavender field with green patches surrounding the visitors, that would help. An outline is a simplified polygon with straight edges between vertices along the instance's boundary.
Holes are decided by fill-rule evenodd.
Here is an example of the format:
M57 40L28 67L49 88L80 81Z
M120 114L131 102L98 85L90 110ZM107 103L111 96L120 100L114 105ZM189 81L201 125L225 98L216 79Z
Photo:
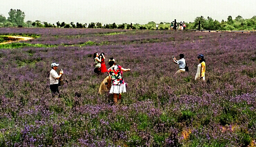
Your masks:
M255 33L0 28L7 34L40 37L0 45L0 146L256 145ZM94 52L132 69L118 105L98 94L107 74L93 72ZM177 75L181 53L189 72ZM205 82L194 80L201 53ZM59 97L53 62L64 71Z

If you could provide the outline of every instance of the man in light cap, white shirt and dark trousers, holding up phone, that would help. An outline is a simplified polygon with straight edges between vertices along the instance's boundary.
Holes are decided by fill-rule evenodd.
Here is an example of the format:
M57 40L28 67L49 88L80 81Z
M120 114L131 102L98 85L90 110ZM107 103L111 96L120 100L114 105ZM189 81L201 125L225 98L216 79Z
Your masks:
M52 91L52 96L54 97L57 93L59 92L59 79L60 77L63 75L63 71L60 71L60 75L58 75L58 73L56 72L56 70L58 69L59 64L56 63L52 63L51 67L52 70L50 71L50 89Z

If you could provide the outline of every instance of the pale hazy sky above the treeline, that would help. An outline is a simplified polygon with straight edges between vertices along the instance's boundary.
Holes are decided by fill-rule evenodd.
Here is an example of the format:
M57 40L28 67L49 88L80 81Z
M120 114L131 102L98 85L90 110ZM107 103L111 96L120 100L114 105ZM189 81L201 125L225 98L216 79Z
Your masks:
M174 3L175 2L175 3ZM196 17L214 20L238 15L256 15L256 0L0 0L0 15L10 9L25 13L25 21L101 22L101 24L147 24L176 21L193 22Z

